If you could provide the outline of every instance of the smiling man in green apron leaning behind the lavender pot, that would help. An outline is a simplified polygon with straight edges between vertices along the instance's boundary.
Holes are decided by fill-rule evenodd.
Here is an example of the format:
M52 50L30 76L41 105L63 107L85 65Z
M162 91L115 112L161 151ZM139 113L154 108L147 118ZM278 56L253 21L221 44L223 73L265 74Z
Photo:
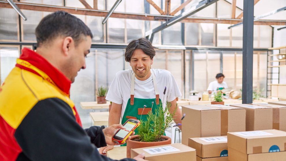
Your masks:
M112 102L109 126L123 124L131 118L146 120L148 111L155 112L161 103L165 108L166 102L170 102L172 104L170 111L175 110L176 98L182 94L169 71L151 69L155 53L151 42L144 38L133 40L127 45L125 60L130 63L132 70L117 72L109 87L106 96L106 100ZM173 117L176 123L181 123L181 115L181 110L178 108ZM105 153L110 149L113 149L113 146L108 145L99 152Z

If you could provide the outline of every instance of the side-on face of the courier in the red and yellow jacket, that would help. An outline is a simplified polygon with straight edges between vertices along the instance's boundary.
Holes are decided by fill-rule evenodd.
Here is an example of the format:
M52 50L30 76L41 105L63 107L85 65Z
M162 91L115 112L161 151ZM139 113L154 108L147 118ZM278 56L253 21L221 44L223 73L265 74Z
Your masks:
M90 52L91 47L91 38L90 36L85 36L82 38L81 42L74 46L74 43L71 42L68 47L68 58L63 63L63 73L67 78L73 83L75 81L75 77L77 76L77 72L81 69L86 68L86 55Z

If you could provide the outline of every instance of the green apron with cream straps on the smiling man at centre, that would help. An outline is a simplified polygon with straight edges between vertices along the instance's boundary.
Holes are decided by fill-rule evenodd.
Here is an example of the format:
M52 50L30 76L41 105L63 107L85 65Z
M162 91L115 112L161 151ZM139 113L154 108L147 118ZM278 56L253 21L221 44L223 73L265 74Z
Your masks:
M160 106L161 99L159 98L159 91L157 87L157 80L155 77L155 74L151 71L153 84L154 84L154 90L156 97L151 99L143 99L143 98L134 98L134 86L135 86L135 74L133 72L131 76L131 91L130 91L130 98L127 102L124 115L122 117L121 124L125 123L128 119L138 119L138 120L147 120L148 111L152 109L152 113L155 113L155 109L157 106ZM152 107L152 102L153 107ZM144 108L144 105L146 107ZM137 129L135 129L135 134L137 133ZM126 143L121 146L126 146Z

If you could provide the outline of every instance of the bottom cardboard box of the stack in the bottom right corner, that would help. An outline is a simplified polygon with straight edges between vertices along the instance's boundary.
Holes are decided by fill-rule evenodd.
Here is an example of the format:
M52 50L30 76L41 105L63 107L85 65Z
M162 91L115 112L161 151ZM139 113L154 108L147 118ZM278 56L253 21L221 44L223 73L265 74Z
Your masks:
M285 161L286 151L275 153L244 154L229 148L229 161Z

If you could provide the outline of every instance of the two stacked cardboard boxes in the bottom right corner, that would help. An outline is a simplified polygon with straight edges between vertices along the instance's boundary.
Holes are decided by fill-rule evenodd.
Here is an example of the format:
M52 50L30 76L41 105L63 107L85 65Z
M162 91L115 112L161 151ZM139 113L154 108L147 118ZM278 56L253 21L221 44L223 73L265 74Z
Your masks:
M229 132L227 138L229 161L286 160L284 131Z

